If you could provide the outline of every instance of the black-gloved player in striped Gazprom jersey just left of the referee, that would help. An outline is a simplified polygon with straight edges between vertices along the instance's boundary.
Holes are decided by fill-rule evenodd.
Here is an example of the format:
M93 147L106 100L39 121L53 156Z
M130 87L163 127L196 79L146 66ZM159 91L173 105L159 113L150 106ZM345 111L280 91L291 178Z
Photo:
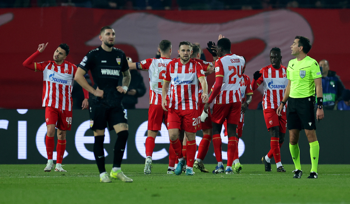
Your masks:
M271 171L270 160L272 156L275 158L277 172L286 172L281 163L280 153L287 127L286 106L283 107L282 116L276 113L288 84L287 68L281 65L281 59L280 48L272 48L270 51L271 65L256 71L252 81L253 90L257 89L261 84L264 87L262 109L264 110L267 129L271 135L271 149L265 157L262 157L261 161L264 163L265 171L267 172Z

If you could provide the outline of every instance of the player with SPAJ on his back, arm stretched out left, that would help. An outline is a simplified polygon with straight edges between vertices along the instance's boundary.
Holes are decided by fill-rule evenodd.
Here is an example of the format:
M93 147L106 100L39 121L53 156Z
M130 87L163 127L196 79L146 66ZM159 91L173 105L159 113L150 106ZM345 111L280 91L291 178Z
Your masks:
M149 73L149 109L148 109L148 130L145 142L146 146L146 161L144 173L151 173L152 153L155 146L155 137L158 131L161 130L164 120L167 124L168 112L162 108L162 85L163 78L167 69L167 65L172 59L172 43L169 40L162 40L159 43L160 59L151 58L141 62L128 62L130 69L138 69L148 71ZM170 92L170 91L169 91ZM169 93L168 92L168 93ZM169 101L169 96L166 96ZM167 107L168 108L168 107ZM176 154L170 145L169 148L169 167L167 174L174 173Z

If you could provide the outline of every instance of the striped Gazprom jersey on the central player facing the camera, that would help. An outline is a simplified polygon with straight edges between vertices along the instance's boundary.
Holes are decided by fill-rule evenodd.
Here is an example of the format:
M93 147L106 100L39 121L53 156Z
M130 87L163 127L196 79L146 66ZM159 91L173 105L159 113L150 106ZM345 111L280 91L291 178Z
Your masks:
M194 59L182 65L180 58L168 63L164 81L170 83L169 108L198 109L198 82L205 77L202 66Z

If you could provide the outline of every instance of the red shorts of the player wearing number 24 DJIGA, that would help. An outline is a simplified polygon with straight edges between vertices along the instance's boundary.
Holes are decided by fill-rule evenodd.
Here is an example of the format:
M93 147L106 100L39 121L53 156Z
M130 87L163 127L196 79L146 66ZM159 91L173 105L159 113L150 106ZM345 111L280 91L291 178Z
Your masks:
M230 124L238 124L240 118L241 102L230 104L214 104L211 121L223 124L225 119Z

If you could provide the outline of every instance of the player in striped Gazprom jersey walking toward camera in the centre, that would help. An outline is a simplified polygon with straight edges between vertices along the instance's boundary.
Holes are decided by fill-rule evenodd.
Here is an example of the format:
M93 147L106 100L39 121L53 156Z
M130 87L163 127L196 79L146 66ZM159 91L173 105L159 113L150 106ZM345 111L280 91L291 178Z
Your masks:
M182 41L178 53L180 58L168 63L162 87L162 107L168 111L168 132L170 145L179 159L175 174L180 175L185 160L182 156L181 143L179 141L179 129L183 129L187 135L187 168L186 175L193 175L193 163L196 155L196 132L201 128L200 113L198 107L198 81L203 88L202 100L208 100L208 84L205 79L202 66L193 59L192 44ZM170 87L169 108L166 95Z

